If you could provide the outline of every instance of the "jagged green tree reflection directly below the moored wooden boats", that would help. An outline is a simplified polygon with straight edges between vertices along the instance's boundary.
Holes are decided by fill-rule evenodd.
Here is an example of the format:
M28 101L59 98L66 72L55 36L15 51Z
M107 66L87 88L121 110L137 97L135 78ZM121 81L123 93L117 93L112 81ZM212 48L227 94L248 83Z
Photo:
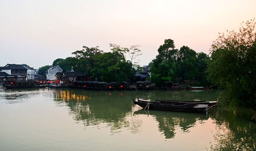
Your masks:
M134 114L146 114L144 109L135 111ZM193 127L198 120L206 120L204 114L187 113L187 112L171 112L161 110L150 110L149 115L155 117L159 122L158 128L163 132L166 139L174 138L175 127L181 127L183 132L189 132L189 128Z

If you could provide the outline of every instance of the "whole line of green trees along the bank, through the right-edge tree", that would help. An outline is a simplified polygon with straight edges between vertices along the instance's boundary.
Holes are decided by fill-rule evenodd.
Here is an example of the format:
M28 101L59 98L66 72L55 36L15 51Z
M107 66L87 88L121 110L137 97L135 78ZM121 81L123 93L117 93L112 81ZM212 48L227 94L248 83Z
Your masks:
M123 48L110 44L111 52L96 47L83 46L72 52L75 57L58 58L52 66L59 65L64 71L75 71L93 76L97 81L136 81L135 73L141 71L138 57L140 45ZM224 89L219 95L224 106L250 107L256 111L256 33L255 20L241 23L239 32L227 31L213 42L210 54L197 53L188 46L176 49L174 41L166 39L158 48L158 55L148 64L156 87L164 81L183 83L196 80L193 86L211 86ZM128 54L129 58L125 58ZM39 74L51 65L39 68Z

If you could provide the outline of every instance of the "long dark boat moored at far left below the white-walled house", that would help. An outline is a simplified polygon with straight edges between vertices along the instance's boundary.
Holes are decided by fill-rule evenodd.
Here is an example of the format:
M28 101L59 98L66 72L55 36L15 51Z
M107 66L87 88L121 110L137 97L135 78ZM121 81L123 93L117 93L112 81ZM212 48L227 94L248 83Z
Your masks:
M3 87L6 89L27 89L27 88L45 88L46 85L41 85L40 81L13 81L5 82Z

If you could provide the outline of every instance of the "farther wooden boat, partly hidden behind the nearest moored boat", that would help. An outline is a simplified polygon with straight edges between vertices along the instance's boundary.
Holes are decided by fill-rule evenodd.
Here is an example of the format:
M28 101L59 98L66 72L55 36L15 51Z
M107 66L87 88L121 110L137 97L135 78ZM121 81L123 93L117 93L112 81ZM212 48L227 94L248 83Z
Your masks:
M208 105L215 105L217 104L218 102L217 101L179 101L179 100L156 100L155 102L160 102L160 103L165 103L165 104L168 104L168 103L171 103L171 104L208 104Z

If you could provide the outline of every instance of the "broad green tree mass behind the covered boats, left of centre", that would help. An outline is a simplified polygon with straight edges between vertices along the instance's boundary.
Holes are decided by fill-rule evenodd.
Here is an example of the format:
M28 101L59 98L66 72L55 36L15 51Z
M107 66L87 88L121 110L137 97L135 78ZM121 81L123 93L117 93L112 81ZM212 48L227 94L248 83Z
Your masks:
M99 47L86 47L72 54L76 59L76 70L92 75L98 81L124 81L133 79L135 70L127 63L124 54L127 49L110 44L112 52L103 52Z

